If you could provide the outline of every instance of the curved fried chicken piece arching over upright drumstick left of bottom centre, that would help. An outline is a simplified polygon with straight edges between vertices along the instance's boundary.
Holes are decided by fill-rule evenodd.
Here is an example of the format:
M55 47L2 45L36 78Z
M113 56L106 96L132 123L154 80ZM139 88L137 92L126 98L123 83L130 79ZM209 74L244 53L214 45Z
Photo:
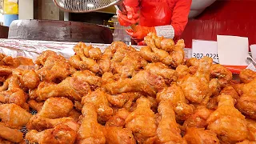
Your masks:
M89 92L86 96L82 97L82 105L85 103L91 103L95 106L98 120L100 121L107 121L113 114L113 110L107 100L107 94L100 89Z

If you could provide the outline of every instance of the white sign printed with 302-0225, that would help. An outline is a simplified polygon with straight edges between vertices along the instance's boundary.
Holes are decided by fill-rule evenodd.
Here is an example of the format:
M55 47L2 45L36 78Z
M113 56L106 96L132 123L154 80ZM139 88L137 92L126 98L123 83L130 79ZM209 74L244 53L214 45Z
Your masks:
M192 58L213 58L218 63L218 45L215 41L195 40L192 42Z

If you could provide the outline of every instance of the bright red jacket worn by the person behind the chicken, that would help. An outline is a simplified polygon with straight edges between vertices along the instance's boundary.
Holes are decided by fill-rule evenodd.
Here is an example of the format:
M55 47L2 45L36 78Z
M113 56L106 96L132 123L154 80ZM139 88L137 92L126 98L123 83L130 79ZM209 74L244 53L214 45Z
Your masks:
M192 0L125 0L126 6L140 10L140 25L174 27L180 37L188 22Z

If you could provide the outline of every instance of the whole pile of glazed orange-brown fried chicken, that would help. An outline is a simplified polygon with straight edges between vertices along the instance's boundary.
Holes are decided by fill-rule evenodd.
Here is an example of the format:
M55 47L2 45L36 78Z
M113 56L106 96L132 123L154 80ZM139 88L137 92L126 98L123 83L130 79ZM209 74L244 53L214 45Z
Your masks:
M211 58L185 60L183 40L145 42L79 42L70 59L46 50L35 63L1 54L0 143L256 142L254 71L238 82Z

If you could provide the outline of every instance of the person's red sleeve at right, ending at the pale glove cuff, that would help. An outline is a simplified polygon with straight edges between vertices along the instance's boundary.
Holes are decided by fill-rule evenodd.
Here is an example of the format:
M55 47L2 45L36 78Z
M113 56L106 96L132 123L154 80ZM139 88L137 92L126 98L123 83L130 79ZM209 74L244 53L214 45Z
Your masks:
M171 18L171 26L174 27L174 37L176 38L182 35L186 23L188 22L191 2L192 0L177 0L175 3L173 15Z

